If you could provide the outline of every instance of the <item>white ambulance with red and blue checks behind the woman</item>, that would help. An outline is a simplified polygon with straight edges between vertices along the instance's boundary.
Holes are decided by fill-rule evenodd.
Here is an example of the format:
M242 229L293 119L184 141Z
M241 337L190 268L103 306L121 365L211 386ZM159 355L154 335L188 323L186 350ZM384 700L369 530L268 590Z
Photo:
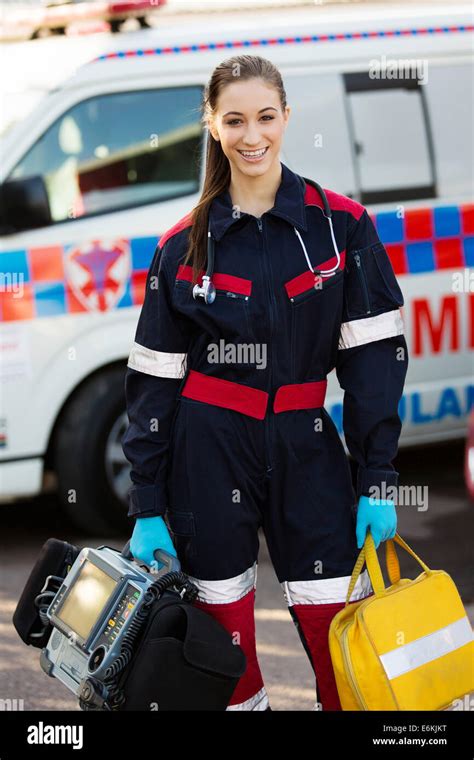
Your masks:
M390 256L409 347L400 447L463 438L474 396L473 31L470 4L407 4L113 35L14 125L0 146L2 502L56 490L89 534L129 529L124 374L146 274L160 236L200 195L203 88L241 53L282 73L292 109L282 161L364 204ZM343 436L334 371L328 383Z

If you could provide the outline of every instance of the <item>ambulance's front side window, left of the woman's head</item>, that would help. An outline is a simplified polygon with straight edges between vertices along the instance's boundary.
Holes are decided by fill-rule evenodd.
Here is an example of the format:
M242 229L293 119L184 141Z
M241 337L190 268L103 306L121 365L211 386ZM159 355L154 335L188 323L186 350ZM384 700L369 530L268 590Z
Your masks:
M63 113L8 179L43 177L53 222L199 190L201 87L97 95Z

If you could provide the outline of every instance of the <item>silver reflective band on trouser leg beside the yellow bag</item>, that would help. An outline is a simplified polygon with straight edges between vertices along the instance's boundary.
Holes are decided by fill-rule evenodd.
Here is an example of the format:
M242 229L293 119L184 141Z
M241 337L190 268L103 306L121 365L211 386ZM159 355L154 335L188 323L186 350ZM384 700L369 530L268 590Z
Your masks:
M319 581L283 581L281 587L288 607L293 604L332 604L345 602L349 590L350 575L340 578L321 578ZM349 601L362 599L371 592L372 584L367 569L357 578Z

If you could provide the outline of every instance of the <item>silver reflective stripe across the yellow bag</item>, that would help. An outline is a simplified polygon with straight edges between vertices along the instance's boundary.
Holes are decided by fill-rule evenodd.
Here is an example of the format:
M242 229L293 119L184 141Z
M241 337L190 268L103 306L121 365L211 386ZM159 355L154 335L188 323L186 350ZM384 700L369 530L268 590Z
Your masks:
M471 624L465 616L438 631L382 654L380 660L387 677L392 680L419 668L420 665L426 665L427 662L454 652L472 640Z

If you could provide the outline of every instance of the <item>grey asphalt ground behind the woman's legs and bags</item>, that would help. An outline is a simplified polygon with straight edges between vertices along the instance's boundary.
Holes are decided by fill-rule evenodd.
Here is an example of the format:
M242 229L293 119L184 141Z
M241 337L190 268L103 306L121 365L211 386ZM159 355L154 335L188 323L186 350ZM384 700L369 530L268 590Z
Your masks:
M394 464L400 472L400 485L418 486L423 497L417 506L398 506L398 532L428 566L452 576L472 624L474 504L464 489L463 454L461 442L405 449ZM11 618L47 538L67 540L81 548L106 544L121 549L130 536L97 539L79 534L52 496L1 505L0 526L0 698L18 700L15 704L24 710L79 710L72 693L43 673L39 650L23 644ZM415 578L421 567L402 550L398 554L402 577ZM383 557L379 550L381 561ZM263 534L255 617L257 654L272 709L312 710L314 674L286 607Z

